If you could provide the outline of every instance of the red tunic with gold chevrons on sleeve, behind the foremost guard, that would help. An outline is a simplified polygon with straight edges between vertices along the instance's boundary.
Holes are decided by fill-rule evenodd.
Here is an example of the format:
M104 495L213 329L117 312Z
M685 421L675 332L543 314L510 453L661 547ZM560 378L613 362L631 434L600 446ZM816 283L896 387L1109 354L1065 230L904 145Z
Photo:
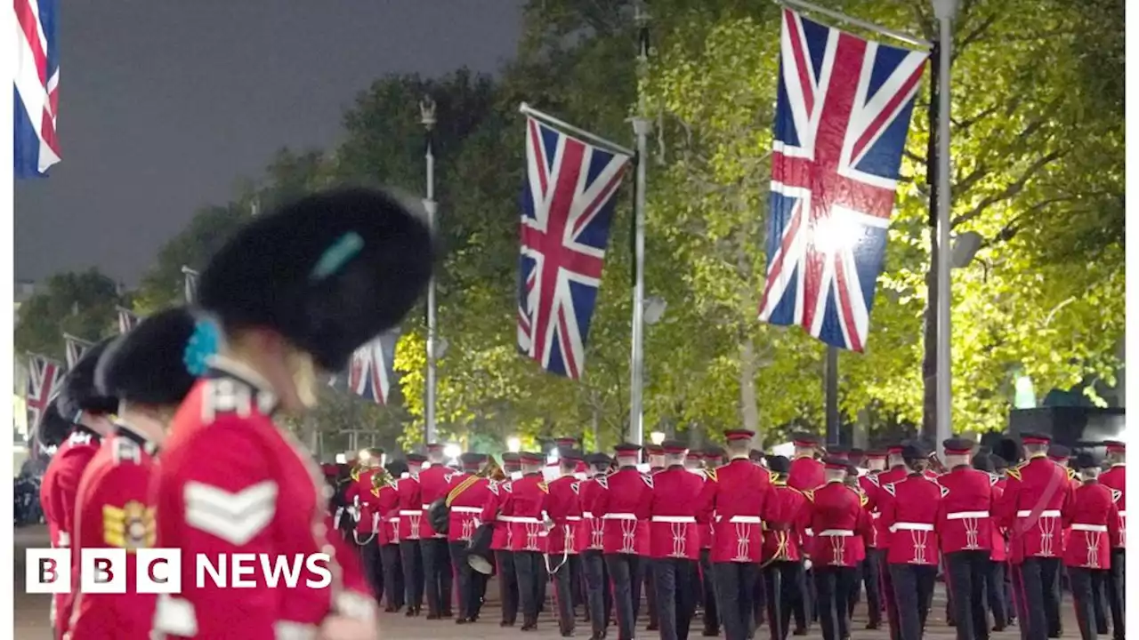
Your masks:
M154 547L154 507L147 495L155 461L153 445L137 434L120 430L104 440L83 470L75 502L72 539L71 624L76 640L148 640L154 624L155 596L139 593L136 549ZM125 549L125 593L80 593L83 549Z

